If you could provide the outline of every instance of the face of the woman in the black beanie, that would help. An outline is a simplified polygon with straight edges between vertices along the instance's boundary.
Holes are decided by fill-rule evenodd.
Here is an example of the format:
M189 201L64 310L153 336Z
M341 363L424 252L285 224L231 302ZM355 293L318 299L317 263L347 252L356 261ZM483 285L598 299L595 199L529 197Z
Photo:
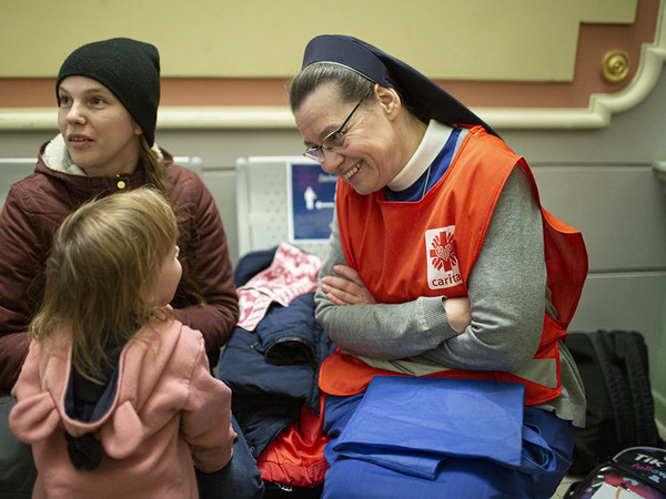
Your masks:
M132 173L142 132L115 95L85 77L65 78L58 94L58 126L72 161L88 176Z

